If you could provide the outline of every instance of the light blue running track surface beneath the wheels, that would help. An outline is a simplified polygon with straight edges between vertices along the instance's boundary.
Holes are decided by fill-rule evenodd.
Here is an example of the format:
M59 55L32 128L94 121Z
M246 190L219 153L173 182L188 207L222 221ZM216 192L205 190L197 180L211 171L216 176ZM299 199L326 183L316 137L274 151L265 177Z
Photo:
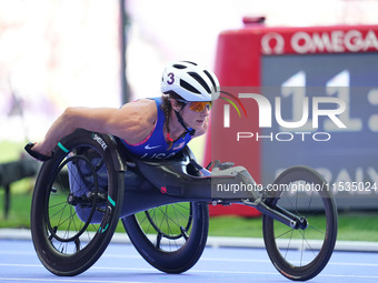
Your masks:
M290 282L263 249L207 247L183 274L151 267L130 244L111 243L101 259L74 277L59 277L39 262L31 241L0 240L0 282ZM378 282L378 253L335 252L309 282Z

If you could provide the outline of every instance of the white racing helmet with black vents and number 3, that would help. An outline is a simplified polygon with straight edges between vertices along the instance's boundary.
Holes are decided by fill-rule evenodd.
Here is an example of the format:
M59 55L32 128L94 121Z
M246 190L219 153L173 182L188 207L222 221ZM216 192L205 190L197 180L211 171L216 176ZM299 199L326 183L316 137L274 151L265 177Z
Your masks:
M186 101L212 101L219 97L219 81L213 72L193 62L172 62L161 80L161 92L171 91Z

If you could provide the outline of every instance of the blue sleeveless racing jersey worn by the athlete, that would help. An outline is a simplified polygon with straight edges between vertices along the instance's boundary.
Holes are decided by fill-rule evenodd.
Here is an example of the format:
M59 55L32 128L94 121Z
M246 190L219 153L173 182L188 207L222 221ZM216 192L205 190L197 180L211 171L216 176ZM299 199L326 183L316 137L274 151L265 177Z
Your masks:
M175 141L172 148L168 150L168 143L162 131L166 121L166 115L161 109L162 99L155 98L152 100L155 100L158 109L158 118L149 137L138 144L130 144L125 140L122 140L122 142L128 151L141 159L169 159L182 150L182 148L191 140L191 135L187 133L186 135L181 137Z

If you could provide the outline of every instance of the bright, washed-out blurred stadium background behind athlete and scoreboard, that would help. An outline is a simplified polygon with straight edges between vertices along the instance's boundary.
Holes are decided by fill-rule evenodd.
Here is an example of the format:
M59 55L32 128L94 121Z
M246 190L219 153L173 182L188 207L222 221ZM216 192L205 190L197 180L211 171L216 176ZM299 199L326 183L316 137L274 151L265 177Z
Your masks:
M160 95L168 61L213 68L219 33L243 17L322 27L377 24L377 14L376 0L0 0L0 162L18 160L68 105ZM200 161L205 146L206 138L192 144Z

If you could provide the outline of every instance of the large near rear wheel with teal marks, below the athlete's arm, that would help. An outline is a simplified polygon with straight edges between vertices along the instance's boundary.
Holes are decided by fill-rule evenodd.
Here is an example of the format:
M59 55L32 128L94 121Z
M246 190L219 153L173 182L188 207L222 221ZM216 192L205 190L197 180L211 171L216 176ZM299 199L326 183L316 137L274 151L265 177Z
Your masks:
M123 172L113 169L110 148L99 142L99 137L77 131L64 138L36 182L32 241L42 264L57 275L72 276L89 269L117 228Z

